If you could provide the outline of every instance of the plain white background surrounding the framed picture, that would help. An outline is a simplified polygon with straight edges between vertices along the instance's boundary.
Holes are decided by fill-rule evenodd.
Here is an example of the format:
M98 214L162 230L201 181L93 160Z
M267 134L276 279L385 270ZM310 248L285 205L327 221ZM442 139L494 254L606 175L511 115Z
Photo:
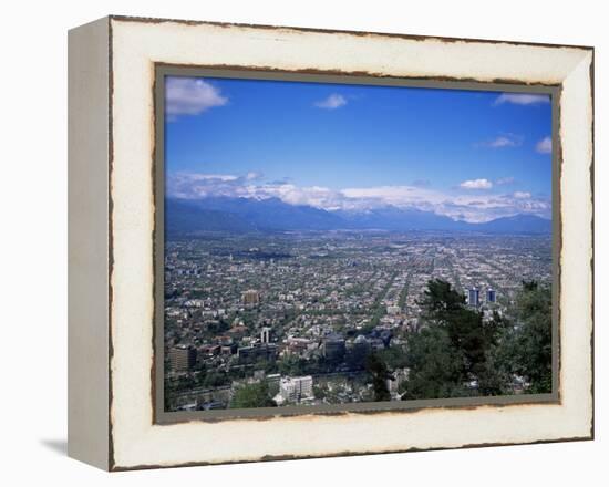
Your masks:
M579 0L375 0L329 2L223 0L65 0L4 2L0 86L4 97L2 138L4 260L0 281L6 371L2 433L9 445L0 474L3 485L146 487L177 485L291 487L340 484L384 486L514 487L605 486L609 478L609 52L603 2ZM506 448L458 449L200 468L140 470L107 475L65 456L66 427L66 46L65 32L107 13L233 22L308 25L328 29L514 39L595 45L596 63L596 441ZM17 68L16 71L8 66ZM18 73L18 75L11 75ZM35 287L32 286L35 280ZM38 290L38 291L35 291ZM31 338L31 340L29 340ZM35 393L32 394L32 383ZM7 401L6 398L19 398Z

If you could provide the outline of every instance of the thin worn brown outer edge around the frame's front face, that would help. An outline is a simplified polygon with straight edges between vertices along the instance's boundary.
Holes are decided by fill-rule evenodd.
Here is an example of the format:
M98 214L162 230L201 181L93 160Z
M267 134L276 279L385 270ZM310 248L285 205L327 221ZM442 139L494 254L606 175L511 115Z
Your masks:
M121 15L111 15L109 18L110 25L112 25L112 20L120 20L120 21L133 21L133 22L151 22L151 23L162 23L162 22L178 22L183 24L210 24L210 25L221 25L221 27L246 27L246 28L266 28L266 29L286 29L280 27L264 27L264 25L250 25L250 24L233 24L233 23L217 23L217 22L197 22L197 21L175 21L175 20L165 20L165 19L143 19L143 18L131 18L131 17L121 17ZM111 28L110 28L111 29ZM367 34L365 32L351 32L351 31L331 31L331 30L316 30L316 29L303 29L303 28L287 28L287 29L293 29L297 31L312 31L312 32L324 32L324 33L347 33L347 34L354 34L354 35L362 35ZM374 33L375 34L375 33ZM412 40L425 40L425 39L434 39L434 40L446 40L448 42L451 41L464 41L464 42L485 42L485 43L505 43L505 44L512 44L512 45L534 45L534 46L550 46L550 48L575 48L586 51L592 52L592 62L590 63L590 84L591 84L591 95L592 95L592 127L591 127L591 135L592 135L592 145L591 145L591 160L589 165L590 170L590 180L592 183L591 187L591 199L592 199L592 231L593 231L593 48L591 46L568 46L568 45L559 45L559 44L541 44L541 43L526 43L526 42L505 42L505 41L488 41L488 40L474 40L474 39L454 39L454 38L435 38L435 37L411 37L411 35L401 35L401 34L383 34L380 33L379 35L384 35L388 38L392 37L399 37L404 39L412 39ZM112 44L112 41L111 41ZM112 71L112 68L111 68ZM111 80L112 80L112 73L111 73ZM112 82L111 82L112 83ZM112 107L112 101L111 101L111 107ZM588 121L587 121L588 123ZM112 158L112 157L111 157ZM593 236L593 234L592 234ZM593 266L593 239L592 239L592 248L591 248L591 266ZM593 278L593 267L592 267L592 278ZM112 288L110 286L110 288ZM589 441L593 439L593 279L592 279L592 307L591 307L591 355L592 355L592 366L591 366L591 376L592 376L592 390L591 390L591 398L592 398L592 411L591 411L591 428L590 428L590 435L589 436L577 436L577 437L567 437L567 438L559 438L559 439L547 439L547 441L533 441L533 442L517 442L517 443L489 443L489 444L473 444L473 445L464 445L464 446L456 446L456 447L437 447L437 448L407 448L407 449L399 449L399 450L388 450L388 452L345 452L345 453L338 453L338 454L328 454L328 455L303 455L303 456L291 456L287 455L285 457L282 456L266 456L260 459L256 460L249 460L249 459L242 459L242 460L235 460L235 462L188 462L188 463L182 463L176 465L138 465L138 466L127 466L122 467L117 466L114 463L114 458L111 458L110 463L110 470L118 472L118 470L131 470L131 469L141 469L141 468L174 468L174 467L182 467L182 466L192 466L192 465L217 465L217 464L231 464L231 463L250 463L250 462L264 462L264 460L280 460L280 459L296 459L296 458L320 458L320 457L334 457L334 456L348 456L348 455L370 455L370 454L378 454L378 453L400 453L400 452L414 452L414 450L437 450L437 449L455 449L455 448L474 448L474 447L484 447L484 446L500 446L500 445L527 445L527 444L545 444L545 443L557 443L557 442L568 442L568 441ZM112 346L112 343L111 343ZM112 385L112 381L111 381ZM110 417L110 416L109 416ZM112 423L110 421L110 423ZM112 442L111 442L112 443ZM112 449L112 445L111 445ZM111 455L112 456L112 455Z

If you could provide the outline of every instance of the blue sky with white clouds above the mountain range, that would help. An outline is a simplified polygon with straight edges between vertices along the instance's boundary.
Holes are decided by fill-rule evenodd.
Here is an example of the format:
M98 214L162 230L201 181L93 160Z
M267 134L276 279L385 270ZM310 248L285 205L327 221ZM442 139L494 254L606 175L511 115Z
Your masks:
M546 95L168 77L167 194L549 217Z

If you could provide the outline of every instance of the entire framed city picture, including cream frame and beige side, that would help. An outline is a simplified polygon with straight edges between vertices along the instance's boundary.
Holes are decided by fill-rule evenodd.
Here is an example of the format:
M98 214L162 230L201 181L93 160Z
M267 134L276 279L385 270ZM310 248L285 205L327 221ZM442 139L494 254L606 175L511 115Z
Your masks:
M110 17L69 35L69 454L593 437L593 51Z

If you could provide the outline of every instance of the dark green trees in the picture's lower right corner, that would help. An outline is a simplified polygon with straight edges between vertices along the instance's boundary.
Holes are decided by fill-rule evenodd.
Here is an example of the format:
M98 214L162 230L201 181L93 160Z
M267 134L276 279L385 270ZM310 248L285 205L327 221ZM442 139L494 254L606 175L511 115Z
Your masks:
M486 321L442 280L427 283L419 304L424 325L407 336L403 398L506 394L516 375L530 383L527 392L551 390L549 288L523 281L509 318Z

